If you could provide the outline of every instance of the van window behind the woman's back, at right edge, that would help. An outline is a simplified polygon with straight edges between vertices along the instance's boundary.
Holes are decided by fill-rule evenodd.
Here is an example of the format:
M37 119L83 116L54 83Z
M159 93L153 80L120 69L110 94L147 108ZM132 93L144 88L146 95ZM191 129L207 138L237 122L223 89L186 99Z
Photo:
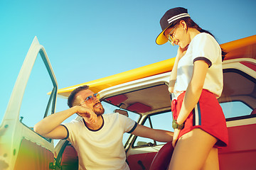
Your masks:
M255 79L238 69L223 70L223 93L218 101L225 118L250 115L256 108Z

